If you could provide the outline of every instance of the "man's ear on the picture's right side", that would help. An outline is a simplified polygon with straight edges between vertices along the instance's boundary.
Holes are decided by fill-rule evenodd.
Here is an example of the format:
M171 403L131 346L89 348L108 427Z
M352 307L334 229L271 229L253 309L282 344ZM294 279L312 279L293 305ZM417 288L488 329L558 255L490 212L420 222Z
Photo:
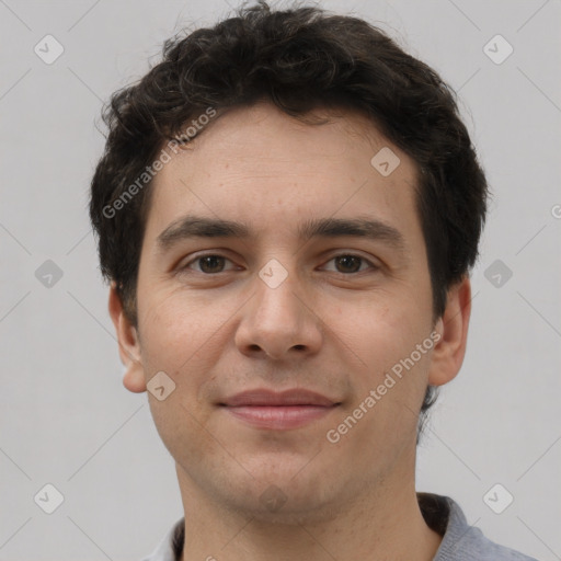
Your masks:
M431 386L443 386L458 374L466 355L470 313L471 283L466 276L448 290L446 309L436 322L435 331L440 337L428 370Z

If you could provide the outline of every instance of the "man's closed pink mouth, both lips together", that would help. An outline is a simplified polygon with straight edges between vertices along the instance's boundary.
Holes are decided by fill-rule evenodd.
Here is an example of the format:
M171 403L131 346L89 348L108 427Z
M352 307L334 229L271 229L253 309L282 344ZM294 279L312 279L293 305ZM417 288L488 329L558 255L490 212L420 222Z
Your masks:
M325 396L304 389L283 392L249 390L219 403L237 420L270 431L300 428L328 415L340 404Z

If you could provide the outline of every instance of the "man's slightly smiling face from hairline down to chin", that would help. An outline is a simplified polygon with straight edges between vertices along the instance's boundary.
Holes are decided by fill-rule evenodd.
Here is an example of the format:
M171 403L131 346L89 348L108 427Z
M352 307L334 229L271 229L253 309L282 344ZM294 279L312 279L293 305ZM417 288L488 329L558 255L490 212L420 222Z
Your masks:
M138 330L114 295L112 316L125 385L165 373L149 399L185 492L290 517L414 477L426 386L462 354L433 324L415 178L359 115L310 126L265 103L158 173Z

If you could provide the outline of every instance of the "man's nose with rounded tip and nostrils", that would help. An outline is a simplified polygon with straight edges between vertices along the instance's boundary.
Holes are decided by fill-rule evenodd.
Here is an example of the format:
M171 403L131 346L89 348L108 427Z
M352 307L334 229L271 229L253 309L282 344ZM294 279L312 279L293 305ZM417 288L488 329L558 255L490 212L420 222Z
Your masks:
M296 275L288 275L274 288L256 277L255 287L236 332L239 351L274 360L318 353L323 341L322 321Z

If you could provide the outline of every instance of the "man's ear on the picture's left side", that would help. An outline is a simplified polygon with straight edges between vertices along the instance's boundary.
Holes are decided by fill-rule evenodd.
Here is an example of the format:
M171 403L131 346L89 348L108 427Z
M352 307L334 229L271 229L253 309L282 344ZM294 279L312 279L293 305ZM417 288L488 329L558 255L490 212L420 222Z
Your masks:
M129 391L146 391L146 378L140 362L140 343L136 328L127 319L123 302L117 294L116 285L111 283L108 310L117 333L118 354L125 365L123 385Z

